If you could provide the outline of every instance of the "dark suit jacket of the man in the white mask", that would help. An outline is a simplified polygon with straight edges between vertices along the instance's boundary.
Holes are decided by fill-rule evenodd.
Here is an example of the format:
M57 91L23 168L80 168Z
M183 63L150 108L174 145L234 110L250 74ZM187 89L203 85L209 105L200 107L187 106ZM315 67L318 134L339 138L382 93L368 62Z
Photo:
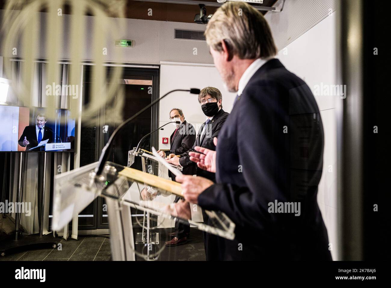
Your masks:
M174 130L175 132L175 130ZM180 155L186 152L194 144L196 135L195 129L192 124L188 123L186 120L179 125L178 131L175 133L172 132L170 136L170 150L166 151L166 155L174 153L175 155ZM174 139L172 138L174 136ZM172 139L172 140L171 140ZM182 173L185 175L195 175L196 168L195 166L184 167ZM169 176L172 177L171 172L169 171Z

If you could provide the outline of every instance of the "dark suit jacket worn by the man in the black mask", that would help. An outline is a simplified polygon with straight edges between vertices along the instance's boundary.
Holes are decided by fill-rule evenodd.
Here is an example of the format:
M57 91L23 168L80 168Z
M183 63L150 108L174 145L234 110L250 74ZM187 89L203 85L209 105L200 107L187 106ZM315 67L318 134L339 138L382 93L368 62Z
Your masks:
M206 123L204 122L204 124L202 124L200 130L198 131L198 136L197 139L195 139L193 147L190 148L187 152L181 154L181 158L179 158L179 164L181 164L184 168L189 166L197 167L197 165L190 160L189 156L190 151L195 151L195 146L200 146L215 151L216 146L215 144L213 144L213 138L219 135L220 130L228 115L230 115L230 113L224 112L224 110L220 109L219 112L217 112L217 114L213 116L212 121L206 127L205 133L201 135L201 132ZM215 173L211 173L203 169L197 169L197 176L202 176L215 182Z

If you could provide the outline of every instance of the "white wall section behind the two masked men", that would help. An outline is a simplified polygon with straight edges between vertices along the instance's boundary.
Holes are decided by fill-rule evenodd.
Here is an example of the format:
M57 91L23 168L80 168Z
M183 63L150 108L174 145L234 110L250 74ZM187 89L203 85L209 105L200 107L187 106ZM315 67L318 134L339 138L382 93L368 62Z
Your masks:
M206 86L213 86L221 91L223 109L226 112L231 112L236 94L230 93L224 88L219 72L214 66L164 63L160 66L160 97L173 89L202 89ZM174 92L165 97L159 104L159 125L170 122L170 110L179 108L183 110L187 122L195 128L200 127L206 121L206 116L201 110L197 96L188 92ZM170 138L174 130L175 127L169 124L165 126L164 130L159 131L159 149L170 149L169 144L162 144L161 142L163 137Z

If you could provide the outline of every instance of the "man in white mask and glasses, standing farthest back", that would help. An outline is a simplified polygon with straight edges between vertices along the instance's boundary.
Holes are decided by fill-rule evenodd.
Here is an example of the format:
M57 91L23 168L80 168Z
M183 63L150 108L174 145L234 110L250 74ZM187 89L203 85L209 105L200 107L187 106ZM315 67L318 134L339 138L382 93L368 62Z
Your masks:
M185 120L185 115L182 110L179 108L172 108L170 111L170 121L179 121L180 124L173 123L175 125L175 130L170 136L170 150L168 151L158 151L161 157L168 156L170 154L179 155L186 152L190 147L192 147L195 141L195 129L192 124L188 123ZM189 166L183 168L182 173L184 175L195 175L196 167ZM169 176L172 181L175 181L175 175L169 171ZM177 203L181 197L176 196L174 202ZM177 246L187 242L190 235L190 226L175 221L175 232L170 233L169 236L173 238L170 241L167 241L165 244L167 246Z

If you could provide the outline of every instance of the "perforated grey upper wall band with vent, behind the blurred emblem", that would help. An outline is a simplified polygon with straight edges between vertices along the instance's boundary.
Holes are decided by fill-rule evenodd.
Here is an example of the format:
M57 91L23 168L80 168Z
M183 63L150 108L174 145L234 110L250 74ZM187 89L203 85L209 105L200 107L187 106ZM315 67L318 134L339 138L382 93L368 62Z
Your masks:
M18 11L12 11L14 16ZM36 57L47 58L48 47L46 43L48 27L47 13L36 13L35 19L40 27L36 43ZM3 22L4 10L0 11L0 20ZM82 58L86 61L94 61L94 50L96 38L94 36L95 16L84 17L83 43L75 45L70 37L70 27L72 15L62 16L63 27L59 33L58 58L68 60L72 55L72 47L81 47ZM10 32L9 23L4 23L4 29ZM99 45L100 50L106 49L103 61L119 63L140 63L140 64L159 64L160 61L185 62L185 63L204 63L212 64L213 59L209 54L206 41L175 39L175 30L194 30L204 31L205 25L196 23L166 22L155 20L121 19L108 18L105 23L104 45ZM17 47L17 55L12 55L12 49L3 49L0 52L2 56L23 57L23 49L28 46L21 45L22 34L18 32L13 36L12 45ZM115 45L116 40L131 40L131 47L120 47ZM5 34L0 35L0 43L4 43ZM3 46L3 45L1 45ZM53 47L54 45L51 45ZM98 49L98 50L99 50ZM4 50L4 51L3 51Z

